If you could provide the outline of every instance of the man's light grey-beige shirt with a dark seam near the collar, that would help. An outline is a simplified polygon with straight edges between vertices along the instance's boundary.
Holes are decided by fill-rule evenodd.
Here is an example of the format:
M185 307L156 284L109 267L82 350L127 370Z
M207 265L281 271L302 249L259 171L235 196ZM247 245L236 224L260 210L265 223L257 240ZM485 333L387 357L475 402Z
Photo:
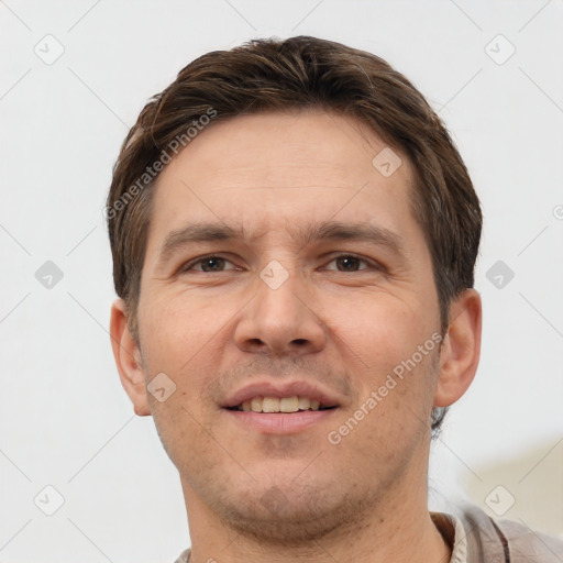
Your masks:
M474 505L457 514L430 512L452 549L450 563L562 563L563 539L510 520L496 520ZM175 563L190 563L184 550Z

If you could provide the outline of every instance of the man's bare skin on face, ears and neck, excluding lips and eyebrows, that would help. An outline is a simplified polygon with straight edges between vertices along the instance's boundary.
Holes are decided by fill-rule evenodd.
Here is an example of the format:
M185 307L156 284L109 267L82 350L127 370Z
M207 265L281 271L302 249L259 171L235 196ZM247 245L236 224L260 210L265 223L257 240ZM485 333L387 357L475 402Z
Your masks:
M194 563L449 561L427 508L429 421L475 375L478 294L452 302L441 345L357 427L339 444L327 439L440 332L430 252L409 203L412 169L395 150L402 164L384 177L372 159L385 146L322 111L245 115L208 126L158 177L139 342L120 299L111 335L135 412L154 417L178 468ZM289 235L328 219L388 229L404 254ZM168 232L203 220L242 224L246 239L185 246L158 263ZM227 262L175 275L214 253ZM361 261L335 260L351 253ZM260 277L274 260L288 273L277 289ZM164 402L146 391L158 373L176 385ZM220 405L262 376L322 383L340 408L291 435L250 429Z

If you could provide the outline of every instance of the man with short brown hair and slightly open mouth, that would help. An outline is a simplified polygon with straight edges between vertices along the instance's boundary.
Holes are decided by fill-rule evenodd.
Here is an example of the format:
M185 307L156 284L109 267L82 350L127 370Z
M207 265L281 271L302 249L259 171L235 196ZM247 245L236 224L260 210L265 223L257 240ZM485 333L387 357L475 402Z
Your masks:
M306 36L198 58L141 112L107 213L113 353L180 475L178 562L561 561L428 510L479 358L482 214L387 63Z

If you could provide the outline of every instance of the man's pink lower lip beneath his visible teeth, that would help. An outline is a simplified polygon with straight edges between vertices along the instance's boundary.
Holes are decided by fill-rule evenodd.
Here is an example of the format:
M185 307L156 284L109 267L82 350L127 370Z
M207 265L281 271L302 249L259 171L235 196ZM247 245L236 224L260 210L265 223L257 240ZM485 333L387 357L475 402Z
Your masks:
M338 408L298 412L252 412L224 409L241 424L266 434L292 434L329 419Z

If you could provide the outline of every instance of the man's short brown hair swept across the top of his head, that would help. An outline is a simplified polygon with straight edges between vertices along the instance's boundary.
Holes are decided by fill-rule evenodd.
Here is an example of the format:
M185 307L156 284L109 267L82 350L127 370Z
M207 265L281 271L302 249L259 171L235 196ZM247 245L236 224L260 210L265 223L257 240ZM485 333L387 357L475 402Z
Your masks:
M123 142L107 217L115 291L126 303L134 338L154 164L169 156L167 148L178 139L189 142L187 128L206 115L217 121L306 108L355 118L410 158L412 211L432 256L445 332L452 299L473 287L481 239L483 218L467 169L440 118L388 63L340 43L298 36L252 40L197 58L148 101ZM434 409L433 430L444 413Z

